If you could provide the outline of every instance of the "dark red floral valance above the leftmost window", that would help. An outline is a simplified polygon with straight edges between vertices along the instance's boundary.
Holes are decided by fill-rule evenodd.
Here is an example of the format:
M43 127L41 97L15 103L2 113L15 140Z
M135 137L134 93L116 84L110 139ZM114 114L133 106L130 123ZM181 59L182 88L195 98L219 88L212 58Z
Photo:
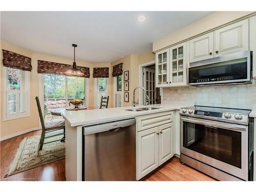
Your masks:
M5 67L31 71L31 58L3 49L3 65Z

